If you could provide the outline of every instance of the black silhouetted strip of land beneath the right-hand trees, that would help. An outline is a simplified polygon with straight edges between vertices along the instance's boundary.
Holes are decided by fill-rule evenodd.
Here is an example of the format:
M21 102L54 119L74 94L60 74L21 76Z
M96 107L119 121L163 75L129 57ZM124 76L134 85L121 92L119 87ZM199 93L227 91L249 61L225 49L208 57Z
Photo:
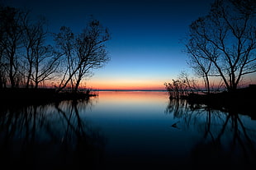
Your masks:
M216 94L189 94L184 97L192 108L212 108L225 113L248 115L256 120L255 110L256 86L241 88L235 92ZM204 106L203 106L204 105Z

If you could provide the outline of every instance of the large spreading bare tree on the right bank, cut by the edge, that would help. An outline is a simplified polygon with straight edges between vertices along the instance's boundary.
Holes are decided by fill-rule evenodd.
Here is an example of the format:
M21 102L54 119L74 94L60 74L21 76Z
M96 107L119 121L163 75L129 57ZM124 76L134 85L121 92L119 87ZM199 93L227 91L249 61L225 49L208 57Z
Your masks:
M212 69L233 91L243 76L256 72L255 15L255 1L216 0L207 16L192 22L187 53L205 78Z

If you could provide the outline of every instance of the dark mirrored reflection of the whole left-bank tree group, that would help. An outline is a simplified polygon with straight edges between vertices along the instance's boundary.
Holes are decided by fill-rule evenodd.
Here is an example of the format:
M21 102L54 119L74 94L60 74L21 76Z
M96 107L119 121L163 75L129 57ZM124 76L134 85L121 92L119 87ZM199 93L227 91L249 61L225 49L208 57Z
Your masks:
M79 113L88 103L65 101L2 111L0 163L32 169L88 168L100 163L105 139Z

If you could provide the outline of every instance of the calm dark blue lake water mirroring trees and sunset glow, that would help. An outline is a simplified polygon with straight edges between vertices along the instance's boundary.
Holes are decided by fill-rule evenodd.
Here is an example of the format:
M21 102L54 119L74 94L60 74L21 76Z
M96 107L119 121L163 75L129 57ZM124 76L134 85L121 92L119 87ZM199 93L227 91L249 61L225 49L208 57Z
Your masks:
M256 121L165 92L100 92L88 101L2 107L0 163L30 169L246 168Z

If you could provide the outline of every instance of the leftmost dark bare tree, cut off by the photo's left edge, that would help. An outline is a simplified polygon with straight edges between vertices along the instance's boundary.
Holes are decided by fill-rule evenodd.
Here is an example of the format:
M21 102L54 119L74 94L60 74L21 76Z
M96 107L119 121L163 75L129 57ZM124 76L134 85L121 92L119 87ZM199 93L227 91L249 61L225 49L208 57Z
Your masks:
M7 61L8 78L12 88L18 85L19 57L17 50L21 48L22 21L25 18L26 12L17 8L1 7L0 9L1 55Z

